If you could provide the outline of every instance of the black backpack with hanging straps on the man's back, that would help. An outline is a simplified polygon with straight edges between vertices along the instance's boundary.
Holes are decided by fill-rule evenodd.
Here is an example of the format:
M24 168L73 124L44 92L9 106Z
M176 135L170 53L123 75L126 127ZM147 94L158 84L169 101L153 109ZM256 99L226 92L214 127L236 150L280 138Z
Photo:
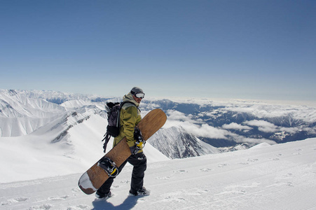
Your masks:
M104 153L107 149L107 144L109 140L111 139L111 137L117 137L118 134L120 133L120 111L123 104L125 103L130 103L135 106L135 104L132 102L121 102L121 103L109 102L105 105L105 109L107 110L108 125L107 125L107 132L104 134L104 139L102 139L102 141L105 140L103 144Z

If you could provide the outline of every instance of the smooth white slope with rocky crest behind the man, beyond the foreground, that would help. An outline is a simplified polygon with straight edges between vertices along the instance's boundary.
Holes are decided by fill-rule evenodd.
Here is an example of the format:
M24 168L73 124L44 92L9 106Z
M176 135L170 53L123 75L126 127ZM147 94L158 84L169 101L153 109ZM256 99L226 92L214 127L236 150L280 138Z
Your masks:
M32 134L0 137L0 183L84 172L104 155L106 127L107 119L90 110L68 113ZM146 149L149 162L169 160L150 144Z

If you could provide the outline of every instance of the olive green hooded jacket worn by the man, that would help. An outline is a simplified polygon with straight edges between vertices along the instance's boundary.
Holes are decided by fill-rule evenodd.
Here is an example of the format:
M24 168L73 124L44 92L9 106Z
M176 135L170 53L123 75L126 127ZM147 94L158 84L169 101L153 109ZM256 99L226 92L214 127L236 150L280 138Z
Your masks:
M139 104L134 100L131 93L125 94L123 102L132 102L123 104L120 111L120 133L118 137L114 138L114 145L118 144L124 137L128 146L135 146L134 130L135 126L142 120L140 111L138 109ZM139 151L139 153L142 151Z

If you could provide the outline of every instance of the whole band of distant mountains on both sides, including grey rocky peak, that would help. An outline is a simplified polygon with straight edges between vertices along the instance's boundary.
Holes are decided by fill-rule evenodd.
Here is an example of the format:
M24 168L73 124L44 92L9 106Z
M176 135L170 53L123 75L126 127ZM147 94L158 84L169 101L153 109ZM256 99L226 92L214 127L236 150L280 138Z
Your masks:
M44 90L0 90L0 137L54 132L52 144L92 116L107 123L105 102L118 97ZM142 116L160 108L167 123L149 144L168 158L245 149L262 142L280 144L316 137L316 109L310 106L209 99L144 99ZM105 132L105 127L104 131ZM69 143L71 144L71 143Z

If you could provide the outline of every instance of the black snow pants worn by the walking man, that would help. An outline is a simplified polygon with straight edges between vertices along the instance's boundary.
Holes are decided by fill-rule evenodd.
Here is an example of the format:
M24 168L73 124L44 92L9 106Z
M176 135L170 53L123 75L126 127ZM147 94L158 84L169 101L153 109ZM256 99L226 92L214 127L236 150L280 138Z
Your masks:
M123 167L125 167L126 163L129 162L133 166L132 170L132 180L130 183L130 190L132 192L136 192L141 189L144 184L144 175L147 167L147 159L144 153L137 153L136 155L130 155L128 160L125 160L123 164L118 167L118 174L121 173ZM110 191L112 183L115 177L109 177L107 181L97 190L99 193L107 194Z

